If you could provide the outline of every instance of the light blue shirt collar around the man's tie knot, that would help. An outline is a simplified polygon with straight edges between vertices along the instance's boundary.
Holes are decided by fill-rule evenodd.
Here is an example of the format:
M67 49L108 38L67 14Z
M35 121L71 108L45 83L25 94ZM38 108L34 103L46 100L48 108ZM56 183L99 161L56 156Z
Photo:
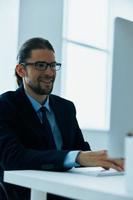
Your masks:
M26 92L25 92L26 93ZM50 109L50 105L49 105L49 96L47 98L47 100L45 101L45 103L42 105L40 104L38 101L36 101L32 96L30 96L28 93L26 93L26 96L28 97L28 99L30 100L34 110L36 112L38 112L38 110L42 107L42 106L45 106L47 108L47 110L49 112L51 112L51 109Z

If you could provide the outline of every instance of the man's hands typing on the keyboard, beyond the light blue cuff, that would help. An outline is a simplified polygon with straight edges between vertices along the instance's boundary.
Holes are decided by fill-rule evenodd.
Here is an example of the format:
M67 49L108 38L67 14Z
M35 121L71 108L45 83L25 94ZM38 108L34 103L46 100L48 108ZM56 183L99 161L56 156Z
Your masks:
M113 168L117 171L124 170L124 161L122 159L109 159L106 150L81 151L77 156L76 162L85 167Z

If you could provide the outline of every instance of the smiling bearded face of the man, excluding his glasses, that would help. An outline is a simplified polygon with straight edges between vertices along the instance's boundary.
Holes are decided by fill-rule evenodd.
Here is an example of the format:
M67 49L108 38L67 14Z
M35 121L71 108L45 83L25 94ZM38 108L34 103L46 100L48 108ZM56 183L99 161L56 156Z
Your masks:
M43 61L47 63L55 62L54 52L48 49L32 50L31 57L27 63ZM49 95L53 89L56 77L56 70L48 67L46 70L38 70L33 65L27 65L25 76L23 77L24 86L27 91L32 91L36 95Z

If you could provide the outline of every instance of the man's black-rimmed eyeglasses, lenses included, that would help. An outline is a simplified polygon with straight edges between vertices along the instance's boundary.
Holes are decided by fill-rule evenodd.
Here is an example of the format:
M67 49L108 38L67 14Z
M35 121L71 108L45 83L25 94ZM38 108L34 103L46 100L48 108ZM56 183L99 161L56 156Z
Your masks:
M45 71L48 67L50 67L53 70L58 71L61 68L61 63L57 63L57 62L52 62L52 63L47 63L44 61L37 61L35 63L21 63L24 67L26 67L27 65L32 65L35 67L35 69L40 70L40 71Z

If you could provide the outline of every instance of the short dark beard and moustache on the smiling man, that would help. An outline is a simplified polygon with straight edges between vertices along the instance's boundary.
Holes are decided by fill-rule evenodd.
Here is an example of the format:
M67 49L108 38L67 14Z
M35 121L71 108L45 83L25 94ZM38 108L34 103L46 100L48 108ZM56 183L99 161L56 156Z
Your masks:
M45 85L44 87L41 86L41 82L43 84L43 81L48 80L48 78L38 78L37 83L33 83L32 81L29 81L28 86L30 89L36 93L37 95L49 95L53 90L53 84L55 77L49 78L51 83L50 86ZM45 83L44 83L45 84Z

